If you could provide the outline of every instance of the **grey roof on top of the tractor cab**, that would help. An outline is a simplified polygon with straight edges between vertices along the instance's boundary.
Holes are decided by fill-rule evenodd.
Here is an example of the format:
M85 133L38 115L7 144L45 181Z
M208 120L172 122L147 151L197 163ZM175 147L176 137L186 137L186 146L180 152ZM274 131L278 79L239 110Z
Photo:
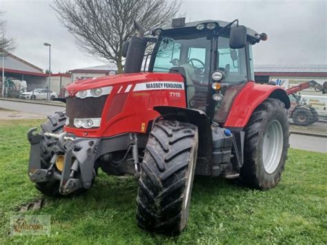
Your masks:
M192 21L192 22L188 22L188 23L183 23L182 22L180 25L178 25L178 23L177 23L177 25L175 25L174 21L175 20L180 20L180 19L184 19L184 18L173 19L172 24L170 24L169 26L164 26L164 27L161 27L161 28L155 28L155 30L162 30L162 31L166 32L166 31L170 31L170 30L176 30L176 29L179 29L179 28L196 28L196 26L201 24L201 23L203 23L203 24L216 23L219 28L224 28L225 26L228 25L228 23L230 23L230 22L227 22L227 21L218 21L218 20L208 19L208 20L204 20L204 21ZM260 41L258 32L256 32L255 30L252 30L251 28L246 28L246 29L248 30L247 34L248 34L248 37L252 40L252 43L257 43L257 42Z

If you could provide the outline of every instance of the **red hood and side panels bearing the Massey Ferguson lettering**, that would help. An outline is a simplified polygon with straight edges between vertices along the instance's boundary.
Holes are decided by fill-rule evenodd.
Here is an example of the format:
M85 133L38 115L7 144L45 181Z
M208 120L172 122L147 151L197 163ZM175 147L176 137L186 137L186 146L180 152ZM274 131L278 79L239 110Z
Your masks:
M159 113L153 110L154 106L186 108L185 90L166 90L163 88L162 90L133 91L136 84L147 81L183 82L184 79L178 74L137 73L84 79L70 84L66 88L70 95L76 95L79 90L91 88L105 86L112 86L113 88L103 108L100 128L83 129L65 126L65 131L74 133L79 137L111 137L123 133L145 133L141 130L142 124L145 124L145 128L147 128L149 121L159 116ZM132 86L128 92L125 92L128 85ZM172 97L171 92L179 92L180 97ZM114 103L117 104L117 97L119 97L118 101L122 99L122 105L119 105L121 108L113 111L112 106ZM124 104L123 100L125 100Z

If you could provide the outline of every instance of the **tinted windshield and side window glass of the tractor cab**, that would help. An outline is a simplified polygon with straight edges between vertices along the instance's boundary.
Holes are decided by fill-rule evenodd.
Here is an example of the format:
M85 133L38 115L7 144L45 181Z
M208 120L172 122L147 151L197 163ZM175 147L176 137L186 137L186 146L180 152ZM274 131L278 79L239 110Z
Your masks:
M211 39L195 37L186 39L185 36L162 37L153 72L169 72L173 67L182 67L186 72L189 83L208 84L210 77ZM228 37L218 38L217 67L223 70L230 84L247 81L245 48L234 50L229 48Z

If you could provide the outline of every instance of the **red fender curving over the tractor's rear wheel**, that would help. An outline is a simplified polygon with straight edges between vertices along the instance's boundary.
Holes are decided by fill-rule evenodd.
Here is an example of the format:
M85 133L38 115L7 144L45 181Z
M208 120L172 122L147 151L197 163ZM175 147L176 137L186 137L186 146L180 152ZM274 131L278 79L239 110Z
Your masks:
M244 128L255 108L267 98L279 99L284 102L287 109L290 108L290 99L284 88L248 81L235 98L224 127Z

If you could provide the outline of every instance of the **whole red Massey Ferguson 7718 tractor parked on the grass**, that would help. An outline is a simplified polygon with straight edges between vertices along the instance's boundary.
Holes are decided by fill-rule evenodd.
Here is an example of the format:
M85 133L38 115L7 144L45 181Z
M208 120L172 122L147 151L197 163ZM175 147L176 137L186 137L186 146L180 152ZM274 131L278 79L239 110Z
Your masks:
M37 189L81 193L99 168L134 175L138 226L178 234L195 175L277 186L290 100L283 88L255 84L252 46L267 36L238 22L179 18L148 34L135 22L138 35L122 48L124 74L71 84L66 112L49 116L37 134L29 130L28 175Z

